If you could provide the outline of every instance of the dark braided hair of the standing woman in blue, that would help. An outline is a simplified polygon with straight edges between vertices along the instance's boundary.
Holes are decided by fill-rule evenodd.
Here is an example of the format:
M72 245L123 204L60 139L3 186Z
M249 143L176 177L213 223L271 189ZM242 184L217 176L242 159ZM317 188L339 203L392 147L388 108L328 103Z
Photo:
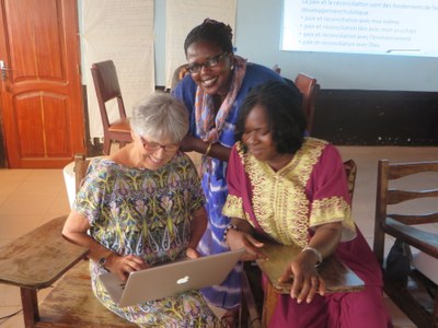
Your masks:
M204 20L203 24L194 27L187 34L184 42L185 55L187 55L187 48L197 42L217 44L223 51L233 52L231 26L215 20Z

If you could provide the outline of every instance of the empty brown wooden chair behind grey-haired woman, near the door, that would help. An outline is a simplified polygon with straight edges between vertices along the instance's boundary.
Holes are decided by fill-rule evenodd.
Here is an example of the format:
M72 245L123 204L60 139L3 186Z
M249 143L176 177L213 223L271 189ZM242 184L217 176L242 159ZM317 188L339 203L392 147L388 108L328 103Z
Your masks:
M125 105L118 84L117 71L112 60L95 62L91 67L94 89L103 125L103 153L110 154L111 144L117 141L120 147L132 141L129 119L126 117ZM110 121L107 103L116 99L119 118Z

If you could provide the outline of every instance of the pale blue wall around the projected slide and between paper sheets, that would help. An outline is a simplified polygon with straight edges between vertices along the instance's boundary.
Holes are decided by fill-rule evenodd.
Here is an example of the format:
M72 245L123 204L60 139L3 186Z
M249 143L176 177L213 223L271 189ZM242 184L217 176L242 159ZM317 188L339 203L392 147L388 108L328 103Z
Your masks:
M155 83L164 85L165 0L154 7ZM237 54L270 68L277 63L289 79L311 74L322 89L438 91L438 58L280 51L281 10L283 0L238 0Z

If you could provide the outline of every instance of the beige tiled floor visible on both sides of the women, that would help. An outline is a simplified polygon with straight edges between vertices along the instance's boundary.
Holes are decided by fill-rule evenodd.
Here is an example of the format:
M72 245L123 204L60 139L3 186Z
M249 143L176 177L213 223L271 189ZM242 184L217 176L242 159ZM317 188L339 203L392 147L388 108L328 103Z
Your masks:
M368 242L372 242L377 160L438 160L438 148L339 147L344 160L358 165L353 213ZM69 203L61 169L0 169L0 247L42 223L68 213ZM38 293L42 300L46 291ZM399 328L415 327L385 298L393 323ZM0 327L22 328L21 313L3 318L21 308L16 288L0 284Z

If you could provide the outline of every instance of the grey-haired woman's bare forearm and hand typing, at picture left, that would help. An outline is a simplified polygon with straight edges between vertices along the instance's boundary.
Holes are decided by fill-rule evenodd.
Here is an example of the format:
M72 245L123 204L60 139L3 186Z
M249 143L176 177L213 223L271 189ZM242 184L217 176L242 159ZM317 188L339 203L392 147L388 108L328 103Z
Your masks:
M117 274L122 280L126 280L130 272L146 268L141 258L132 255L123 257L102 246L88 234L89 229L90 223L88 219L72 210L64 225L62 235L73 244L88 247L90 249L88 257L95 262L100 262L100 260L104 258L104 267Z

